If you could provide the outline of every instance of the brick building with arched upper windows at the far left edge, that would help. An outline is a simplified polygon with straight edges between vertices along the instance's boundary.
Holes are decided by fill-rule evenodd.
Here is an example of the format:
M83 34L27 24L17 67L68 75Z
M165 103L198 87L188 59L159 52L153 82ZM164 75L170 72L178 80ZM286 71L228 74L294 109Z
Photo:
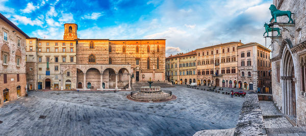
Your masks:
M14 23L0 13L0 106L26 93L25 38Z

